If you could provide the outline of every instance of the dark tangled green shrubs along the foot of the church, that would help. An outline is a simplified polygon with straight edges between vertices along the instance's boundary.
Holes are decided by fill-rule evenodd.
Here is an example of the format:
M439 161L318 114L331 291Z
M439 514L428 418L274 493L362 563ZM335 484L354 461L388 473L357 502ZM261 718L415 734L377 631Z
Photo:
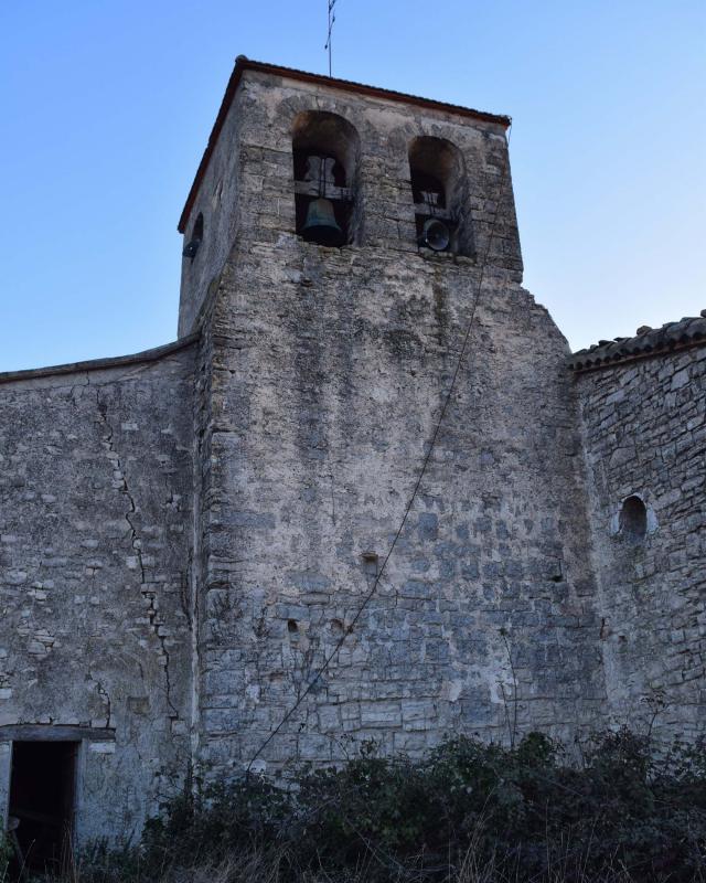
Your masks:
M579 765L537 733L515 748L459 737L419 762L367 746L288 789L249 776L182 796L94 879L227 866L223 880L264 880L237 870L256 855L281 883L706 881L704 747L655 753L621 730Z

